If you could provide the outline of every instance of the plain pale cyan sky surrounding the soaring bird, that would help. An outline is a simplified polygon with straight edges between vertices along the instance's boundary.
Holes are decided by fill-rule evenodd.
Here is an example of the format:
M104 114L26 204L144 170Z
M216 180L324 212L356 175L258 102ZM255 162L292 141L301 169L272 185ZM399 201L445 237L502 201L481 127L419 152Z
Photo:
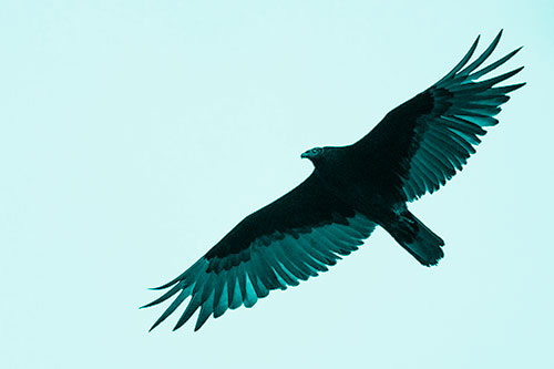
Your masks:
M2 1L0 367L553 368L552 1ZM147 334L238 221L500 29L529 84L465 170L253 309ZM500 73L499 72L499 73ZM166 306L166 305L164 305ZM182 311L182 310L178 310Z

